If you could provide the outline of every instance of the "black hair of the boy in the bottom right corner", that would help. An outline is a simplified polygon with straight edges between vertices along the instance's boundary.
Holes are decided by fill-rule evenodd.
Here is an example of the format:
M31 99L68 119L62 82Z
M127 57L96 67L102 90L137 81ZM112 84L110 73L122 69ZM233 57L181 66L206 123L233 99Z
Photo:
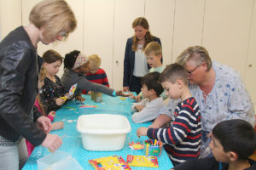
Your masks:
M234 151L240 160L247 160L256 150L256 133L251 124L241 119L218 122L212 135L225 152Z

